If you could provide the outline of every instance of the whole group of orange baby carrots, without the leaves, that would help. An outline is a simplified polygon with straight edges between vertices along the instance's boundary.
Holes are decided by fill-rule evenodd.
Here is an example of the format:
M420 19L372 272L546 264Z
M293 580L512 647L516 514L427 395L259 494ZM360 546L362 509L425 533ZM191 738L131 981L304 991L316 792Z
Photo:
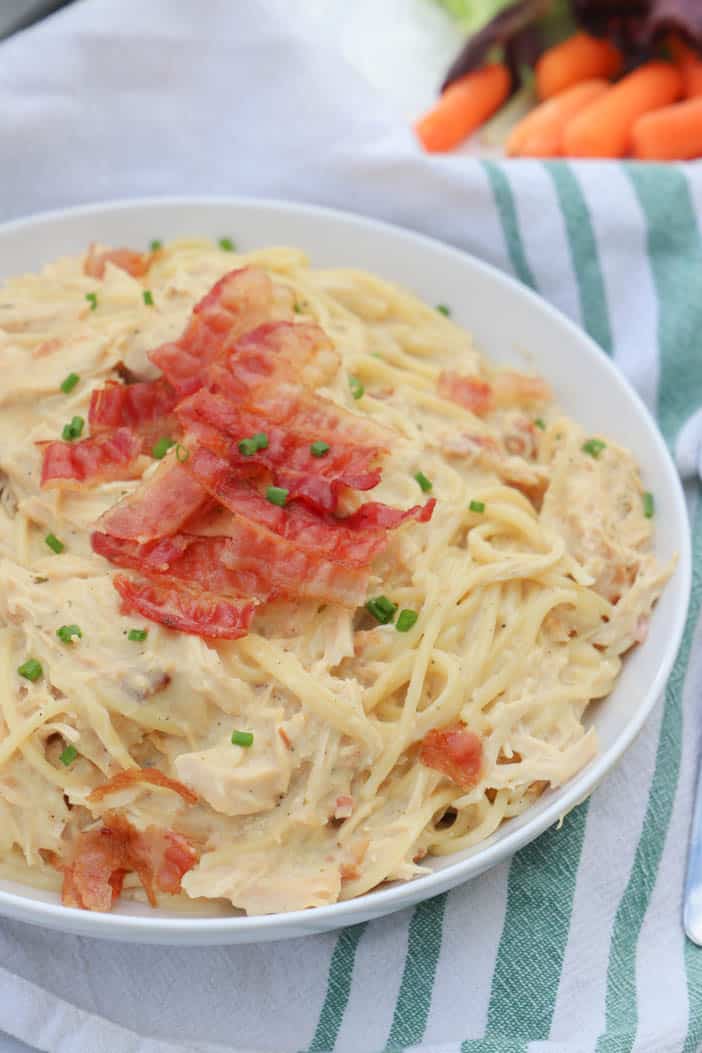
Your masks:
M539 103L513 127L506 154L702 157L702 56L679 38L667 53L622 75L623 57L608 40L581 32L548 48L536 64ZM424 150L453 150L500 110L512 86L502 62L454 81L415 125Z

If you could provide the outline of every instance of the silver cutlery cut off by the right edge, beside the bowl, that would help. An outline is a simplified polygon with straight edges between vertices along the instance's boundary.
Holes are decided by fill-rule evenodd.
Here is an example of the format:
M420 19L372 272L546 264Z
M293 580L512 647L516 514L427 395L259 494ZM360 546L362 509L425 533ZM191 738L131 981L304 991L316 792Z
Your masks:
M676 461L683 481L702 480L702 410L680 432ZM683 926L689 939L702 946L702 760L697 774L697 793L689 830L687 874L683 893Z

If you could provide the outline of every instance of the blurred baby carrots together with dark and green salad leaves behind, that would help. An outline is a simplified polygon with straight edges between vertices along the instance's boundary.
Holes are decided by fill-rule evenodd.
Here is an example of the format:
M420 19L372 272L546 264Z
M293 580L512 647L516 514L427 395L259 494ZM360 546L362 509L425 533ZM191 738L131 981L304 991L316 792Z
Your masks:
M677 101L702 98L702 0L436 2L467 39L416 123L426 150L488 122L513 157L702 156L699 108Z

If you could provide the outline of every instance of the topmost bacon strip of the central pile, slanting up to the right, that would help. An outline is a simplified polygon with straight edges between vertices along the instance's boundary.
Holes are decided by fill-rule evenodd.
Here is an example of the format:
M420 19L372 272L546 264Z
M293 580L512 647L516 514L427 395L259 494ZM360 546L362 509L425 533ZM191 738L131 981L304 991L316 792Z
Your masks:
M152 362L181 396L197 391L206 366L247 330L264 322L273 305L273 285L258 267L229 271L193 311L180 337L149 352Z

